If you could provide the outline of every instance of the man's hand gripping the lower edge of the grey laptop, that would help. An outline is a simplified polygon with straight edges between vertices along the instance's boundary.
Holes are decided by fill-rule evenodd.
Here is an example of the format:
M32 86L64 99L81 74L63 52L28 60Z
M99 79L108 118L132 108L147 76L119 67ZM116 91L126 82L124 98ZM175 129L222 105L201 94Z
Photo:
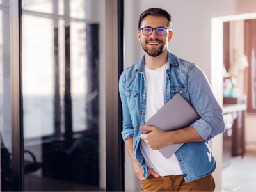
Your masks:
M159 150L169 145L170 132L163 131L162 129L154 126L141 126L141 129L151 131L147 134L141 134L140 138L147 143L148 147L152 150Z

